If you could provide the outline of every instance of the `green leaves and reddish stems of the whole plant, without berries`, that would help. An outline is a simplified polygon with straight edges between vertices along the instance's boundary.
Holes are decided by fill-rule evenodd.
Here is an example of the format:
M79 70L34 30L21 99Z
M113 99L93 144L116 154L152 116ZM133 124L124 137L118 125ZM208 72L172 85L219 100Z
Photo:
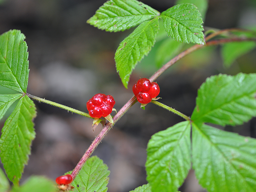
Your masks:
M130 75L138 61L154 45L160 27L159 19L171 39L195 44L163 65L149 78L150 82L155 81L176 61L206 46L223 45L222 56L226 67L237 56L256 46L256 32L252 30L211 30L205 32L208 34L205 37L202 32L204 16L190 2L194 2L202 14L205 14L206 0L178 0L177 5L162 13L136 0L110 0L88 20L89 24L110 32L123 31L138 25L120 43L115 54L117 72L124 87L127 88ZM175 47L180 50L180 45ZM85 112L27 93L28 74L28 52L24 35L19 30L2 34L0 85L20 93L0 95L0 118L18 100L15 109L5 121L0 138L1 161L14 186L11 188L6 175L0 171L0 191L107 191L107 166L98 157L90 156L113 125L137 102L136 96L123 105L112 122L99 118L103 128L77 166L65 173L71 175L72 183L66 185L72 187L58 189L53 181L41 176L31 176L19 186L24 166L28 163L31 143L35 138L33 119L36 117L36 107L31 99L93 119ZM183 184L191 165L199 184L209 192L256 191L256 140L209 125L241 125L256 116L256 74L218 74L207 78L198 90L191 117L158 101L152 100L151 103L172 111L183 117L184 121L154 134L149 140L145 165L148 184L137 187L136 192L175 192ZM58 182L57 184L60 185Z

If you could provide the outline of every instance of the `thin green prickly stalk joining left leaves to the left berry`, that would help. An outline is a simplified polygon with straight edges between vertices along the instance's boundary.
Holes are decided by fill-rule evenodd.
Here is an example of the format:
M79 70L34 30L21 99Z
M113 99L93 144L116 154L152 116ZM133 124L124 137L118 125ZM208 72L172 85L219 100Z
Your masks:
M65 105L62 105L62 104L58 104L58 103L52 102L52 101L49 101L49 100L46 100L46 99L42 99L42 98L34 96L34 95L30 95L29 93L26 93L26 95L29 98L37 100L39 102L43 102L43 103L47 103L47 104L50 104L50 105L54 105L56 107L59 107L59 108L62 108L62 109L66 109L67 111L71 111L72 113L77 113L79 115L82 115L82 116L85 116L85 117L93 119L88 113L85 113L85 112L73 109L71 107L68 107L68 106L65 106Z

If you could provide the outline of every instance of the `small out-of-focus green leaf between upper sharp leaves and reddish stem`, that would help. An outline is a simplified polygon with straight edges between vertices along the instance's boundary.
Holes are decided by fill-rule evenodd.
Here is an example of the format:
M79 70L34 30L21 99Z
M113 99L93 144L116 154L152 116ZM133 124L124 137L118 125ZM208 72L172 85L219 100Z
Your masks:
M158 47L155 60L157 67L162 66L165 62L175 56L183 47L181 42L175 41L171 38L165 39Z

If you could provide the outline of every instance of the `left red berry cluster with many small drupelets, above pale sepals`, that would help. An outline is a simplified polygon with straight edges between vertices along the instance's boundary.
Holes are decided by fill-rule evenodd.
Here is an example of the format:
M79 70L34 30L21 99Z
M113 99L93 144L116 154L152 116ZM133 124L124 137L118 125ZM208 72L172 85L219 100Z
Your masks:
M91 117L101 118L108 116L112 112L115 103L111 95L98 93L86 103L86 106Z

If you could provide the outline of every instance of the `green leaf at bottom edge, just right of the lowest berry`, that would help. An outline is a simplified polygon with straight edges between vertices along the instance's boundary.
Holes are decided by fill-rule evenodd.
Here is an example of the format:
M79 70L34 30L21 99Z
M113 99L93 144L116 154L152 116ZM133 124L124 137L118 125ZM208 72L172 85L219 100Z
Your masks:
M110 173L107 169L107 165L99 157L90 157L72 182L74 192L106 192Z

